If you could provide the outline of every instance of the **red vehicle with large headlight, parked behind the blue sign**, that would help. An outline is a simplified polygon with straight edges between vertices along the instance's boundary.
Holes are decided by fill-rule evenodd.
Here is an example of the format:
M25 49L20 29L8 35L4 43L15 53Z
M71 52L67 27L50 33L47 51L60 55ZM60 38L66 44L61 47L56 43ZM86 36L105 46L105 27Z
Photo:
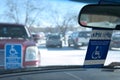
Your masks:
M21 50L16 48L16 45L21 45ZM20 24L0 23L0 68L5 68L7 61L8 63L11 61L9 59L17 60L11 56L17 56L15 54L18 53L22 55L19 58L22 60L22 68L40 66L40 52L28 28Z

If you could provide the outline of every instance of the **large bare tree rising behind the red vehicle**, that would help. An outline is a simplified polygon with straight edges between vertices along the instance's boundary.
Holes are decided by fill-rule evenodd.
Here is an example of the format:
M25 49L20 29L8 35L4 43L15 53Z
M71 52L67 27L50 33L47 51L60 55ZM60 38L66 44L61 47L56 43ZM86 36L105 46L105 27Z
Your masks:
M36 20L40 12L44 9L44 6L33 4L32 0L26 0L21 4L17 0L6 0L6 7L5 17L7 17L8 20L25 24L28 27L37 24Z

